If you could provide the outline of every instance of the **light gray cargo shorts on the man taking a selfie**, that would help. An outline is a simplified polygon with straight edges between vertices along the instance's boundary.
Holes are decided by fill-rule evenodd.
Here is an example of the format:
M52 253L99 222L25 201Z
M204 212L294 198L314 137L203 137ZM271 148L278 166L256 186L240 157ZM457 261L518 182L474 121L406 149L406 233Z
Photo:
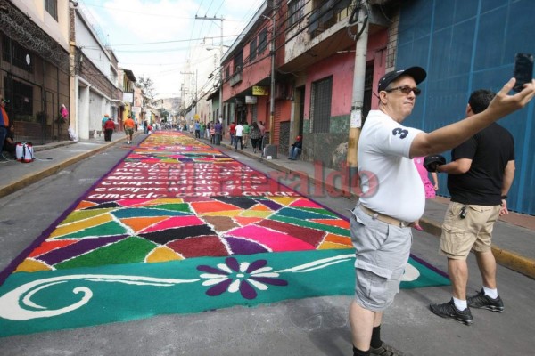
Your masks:
M356 206L350 231L357 255L355 301L366 310L383 312L399 293L410 255L411 228L380 222Z

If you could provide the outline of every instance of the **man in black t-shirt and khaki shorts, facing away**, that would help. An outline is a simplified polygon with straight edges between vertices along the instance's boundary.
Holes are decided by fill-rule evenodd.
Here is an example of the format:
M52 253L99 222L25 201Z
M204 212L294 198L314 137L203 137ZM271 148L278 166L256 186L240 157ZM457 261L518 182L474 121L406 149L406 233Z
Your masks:
M495 93L477 90L470 95L466 114L472 117L486 109ZM431 304L431 311L469 325L470 308L503 312L498 295L496 260L490 250L492 230L498 216L508 214L507 193L514 179L514 139L496 123L474 134L451 151L452 161L438 166L448 174L451 195L440 236L440 254L448 258L448 274L453 287L449 303ZM466 298L468 265L473 250L483 287Z

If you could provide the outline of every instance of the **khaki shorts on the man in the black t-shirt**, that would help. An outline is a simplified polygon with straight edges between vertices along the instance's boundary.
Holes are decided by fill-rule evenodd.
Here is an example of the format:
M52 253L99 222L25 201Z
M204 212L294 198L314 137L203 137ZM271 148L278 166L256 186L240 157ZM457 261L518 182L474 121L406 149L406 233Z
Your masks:
M460 217L463 206L466 206L464 219ZM472 249L490 251L492 229L498 220L500 207L449 203L442 223L440 255L461 260L466 259Z

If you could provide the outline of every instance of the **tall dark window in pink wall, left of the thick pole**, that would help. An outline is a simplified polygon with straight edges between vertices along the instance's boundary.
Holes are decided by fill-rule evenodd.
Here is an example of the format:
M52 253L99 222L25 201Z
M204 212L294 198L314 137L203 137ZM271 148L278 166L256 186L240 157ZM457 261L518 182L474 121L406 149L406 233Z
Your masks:
M331 125L331 98L333 96L333 77L312 83L310 98L310 117L312 133L329 133Z

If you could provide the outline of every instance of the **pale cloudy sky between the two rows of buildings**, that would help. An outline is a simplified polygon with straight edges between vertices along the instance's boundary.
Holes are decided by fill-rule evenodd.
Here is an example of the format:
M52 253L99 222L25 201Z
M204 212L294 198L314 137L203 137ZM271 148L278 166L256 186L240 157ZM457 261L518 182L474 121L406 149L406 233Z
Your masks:
M119 68L150 77L157 98L180 96L185 63L213 61L196 44L231 45L265 0L78 0ZM197 20L195 17L225 19ZM181 73L182 72L182 73ZM200 78L202 80L202 78ZM200 84L202 85L202 84Z

